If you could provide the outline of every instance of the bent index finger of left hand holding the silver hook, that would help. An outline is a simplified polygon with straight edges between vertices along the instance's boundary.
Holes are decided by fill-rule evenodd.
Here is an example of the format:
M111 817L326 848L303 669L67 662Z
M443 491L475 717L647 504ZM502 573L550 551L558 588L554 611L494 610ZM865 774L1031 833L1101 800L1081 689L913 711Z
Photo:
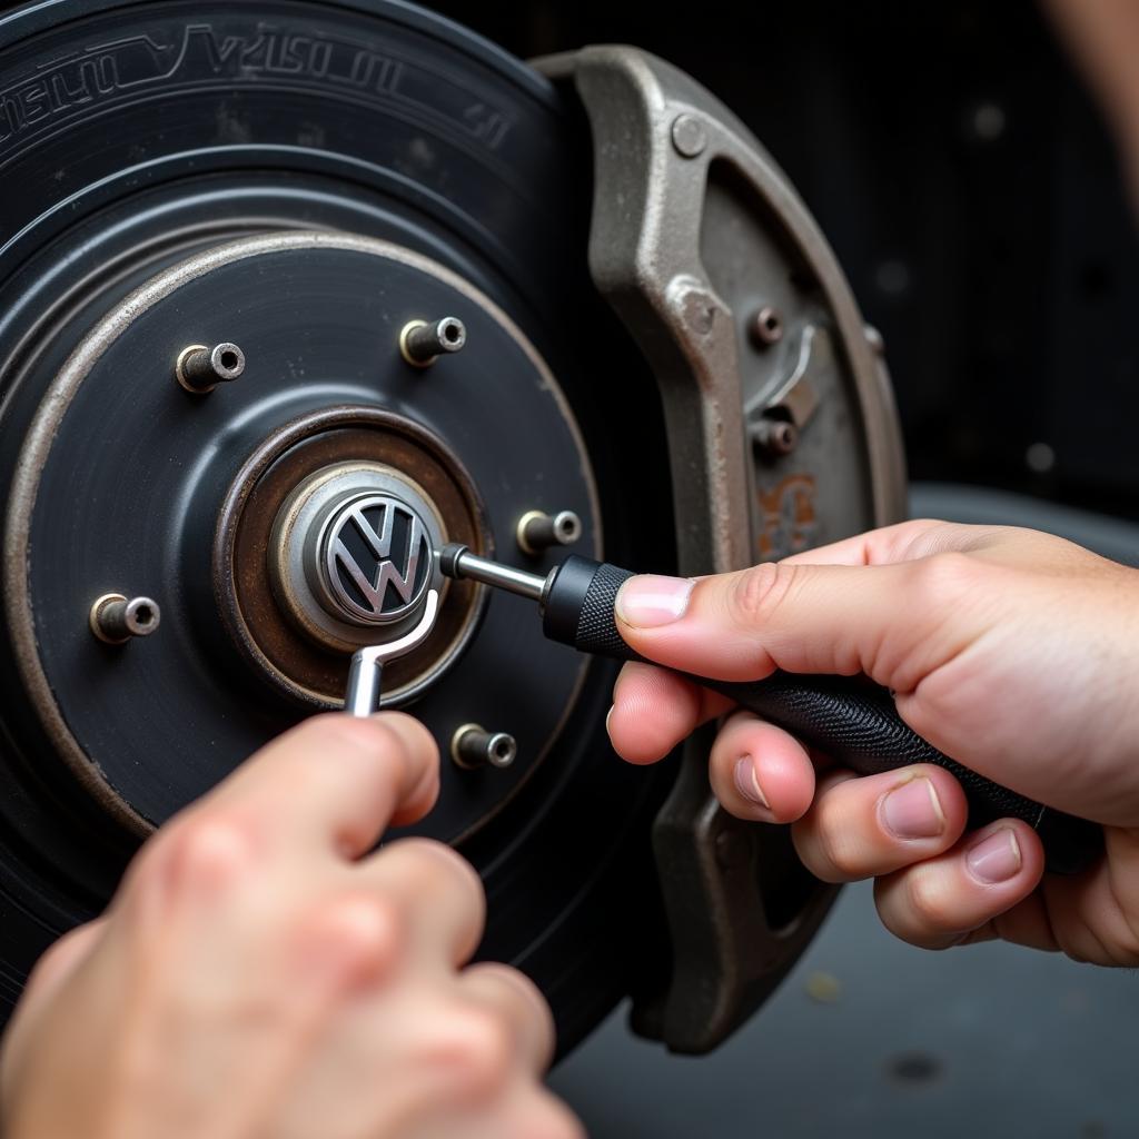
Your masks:
M439 794L439 748L409 715L313 716L263 747L192 810L252 822L270 841L331 845L347 858Z

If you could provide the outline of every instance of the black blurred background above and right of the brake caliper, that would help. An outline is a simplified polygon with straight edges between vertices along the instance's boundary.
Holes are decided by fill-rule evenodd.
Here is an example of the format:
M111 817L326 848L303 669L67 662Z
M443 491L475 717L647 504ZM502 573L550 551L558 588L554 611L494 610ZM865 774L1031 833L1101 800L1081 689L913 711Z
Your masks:
M741 115L883 333L917 480L1139 517L1139 248L1035 3L431 5L523 57L636 43Z

